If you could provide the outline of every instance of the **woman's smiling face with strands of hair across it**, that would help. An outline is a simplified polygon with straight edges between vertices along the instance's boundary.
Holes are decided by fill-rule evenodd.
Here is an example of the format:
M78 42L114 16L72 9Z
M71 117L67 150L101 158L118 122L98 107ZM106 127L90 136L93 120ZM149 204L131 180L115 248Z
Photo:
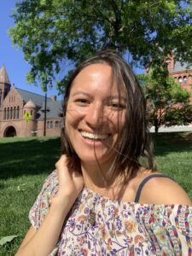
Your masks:
M118 90L108 64L91 64L75 77L65 127L82 162L98 160L110 166L125 124L125 101L125 92Z

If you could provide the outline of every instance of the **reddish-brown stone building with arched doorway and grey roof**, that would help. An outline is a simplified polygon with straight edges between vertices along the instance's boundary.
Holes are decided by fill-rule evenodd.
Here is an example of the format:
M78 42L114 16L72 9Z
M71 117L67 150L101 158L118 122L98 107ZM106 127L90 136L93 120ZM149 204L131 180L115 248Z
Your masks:
M47 98L46 136L60 136L61 101ZM26 122L26 115L30 120ZM44 136L44 96L10 84L8 73L0 69L0 137Z

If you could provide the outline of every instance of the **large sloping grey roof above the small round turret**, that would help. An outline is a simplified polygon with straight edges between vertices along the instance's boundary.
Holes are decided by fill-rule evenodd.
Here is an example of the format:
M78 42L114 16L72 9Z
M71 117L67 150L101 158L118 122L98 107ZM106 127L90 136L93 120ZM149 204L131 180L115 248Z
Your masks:
M29 100L31 100L33 103L35 103L35 105L41 107L42 104L44 103L44 96L39 95L37 93L34 92L30 92L28 90L22 90L19 88L15 88L20 96L23 98L24 102L28 102ZM52 101L51 98L47 98L47 101Z

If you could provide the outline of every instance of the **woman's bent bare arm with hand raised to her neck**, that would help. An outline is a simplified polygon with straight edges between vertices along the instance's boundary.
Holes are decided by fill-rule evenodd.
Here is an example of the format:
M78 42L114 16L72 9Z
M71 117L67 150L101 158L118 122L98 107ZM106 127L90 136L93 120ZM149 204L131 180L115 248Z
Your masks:
M73 170L71 162L62 154L55 164L58 171L59 189L52 199L49 212L38 230L33 227L27 232L20 245L18 256L49 255L61 234L61 228L67 213L73 206L84 186L80 172Z

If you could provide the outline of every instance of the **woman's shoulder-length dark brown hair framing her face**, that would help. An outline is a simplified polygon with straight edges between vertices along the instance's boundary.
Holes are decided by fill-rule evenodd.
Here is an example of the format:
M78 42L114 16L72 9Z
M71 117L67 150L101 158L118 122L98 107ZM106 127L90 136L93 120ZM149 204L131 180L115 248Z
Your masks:
M81 63L73 72L67 83L62 105L64 124L73 80L84 67L96 63L105 63L112 67L112 76L115 79L118 91L123 88L126 98L125 127L119 135L119 148L108 171L108 177L103 172L102 174L105 176L107 184L110 184L119 175L123 176L125 183L127 183L128 180L136 176L141 166L141 158L147 162L145 167L154 170L153 143L148 132L146 102L143 91L131 67L116 52L112 50L101 51ZM61 131L61 153L67 154L72 159L78 159L78 155L73 150L67 137L65 127ZM100 166L100 169L102 170L102 166Z

